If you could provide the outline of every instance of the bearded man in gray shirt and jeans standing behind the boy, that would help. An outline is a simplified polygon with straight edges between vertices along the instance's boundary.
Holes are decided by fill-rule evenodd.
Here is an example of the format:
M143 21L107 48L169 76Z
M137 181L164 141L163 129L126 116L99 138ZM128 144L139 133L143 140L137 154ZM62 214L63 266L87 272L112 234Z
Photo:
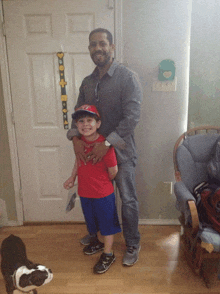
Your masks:
M122 226L127 246L123 265L132 266L137 262L140 251L134 129L140 118L142 90L137 75L113 59L114 49L108 30L99 28L90 33L89 52L96 68L83 80L76 105L76 108L84 104L97 107L102 118L99 133L106 140L95 144L92 151L85 154L84 143L74 122L67 137L73 140L77 160L81 159L84 163L93 160L96 164L107 153L109 146L114 146L118 161L115 181L122 200Z

